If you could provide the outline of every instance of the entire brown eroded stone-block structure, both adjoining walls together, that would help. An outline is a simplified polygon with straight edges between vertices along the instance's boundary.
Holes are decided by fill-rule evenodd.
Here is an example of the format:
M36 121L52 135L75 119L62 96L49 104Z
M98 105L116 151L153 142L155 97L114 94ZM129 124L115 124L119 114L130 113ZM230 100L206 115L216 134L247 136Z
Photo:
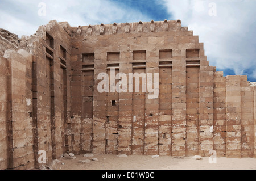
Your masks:
M203 43L180 20L53 20L30 37L1 30L0 38L0 169L38 168L39 150L47 163L70 152L256 155L255 83L209 66ZM158 98L100 93L98 75L111 68L127 77L159 73Z

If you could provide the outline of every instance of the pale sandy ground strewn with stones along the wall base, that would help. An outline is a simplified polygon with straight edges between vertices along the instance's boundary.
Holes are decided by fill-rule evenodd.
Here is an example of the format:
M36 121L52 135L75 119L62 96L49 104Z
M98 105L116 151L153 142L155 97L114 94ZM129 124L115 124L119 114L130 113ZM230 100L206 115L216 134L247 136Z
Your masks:
M53 170L255 170L256 158L226 158L217 157L217 163L209 163L209 157L201 157L195 160L192 157L175 158L170 156L129 155L127 158L118 158L116 155L94 155L83 157L75 155L76 159L60 158L59 163L53 166ZM78 163L79 160L97 158L98 161L90 163ZM65 163L62 165L61 163Z

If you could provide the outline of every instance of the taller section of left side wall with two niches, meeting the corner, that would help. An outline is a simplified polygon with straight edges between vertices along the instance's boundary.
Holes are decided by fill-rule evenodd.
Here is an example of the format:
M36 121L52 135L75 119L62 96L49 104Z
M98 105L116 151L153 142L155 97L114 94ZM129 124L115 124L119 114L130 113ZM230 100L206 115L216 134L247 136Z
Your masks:
M32 44L33 107L35 157L38 151L46 151L47 163L60 158L68 147L70 85L69 58L70 35L68 23L49 22L39 27ZM65 134L66 133L66 134ZM39 167L38 165L36 165Z

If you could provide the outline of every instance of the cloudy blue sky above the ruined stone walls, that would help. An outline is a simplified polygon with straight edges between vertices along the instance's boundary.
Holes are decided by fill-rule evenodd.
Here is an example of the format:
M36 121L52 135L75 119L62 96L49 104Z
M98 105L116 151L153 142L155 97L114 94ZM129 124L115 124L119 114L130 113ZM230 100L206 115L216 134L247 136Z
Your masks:
M71 26L180 19L199 35L210 65L256 82L255 8L255 0L1 0L0 28L21 37L53 19Z

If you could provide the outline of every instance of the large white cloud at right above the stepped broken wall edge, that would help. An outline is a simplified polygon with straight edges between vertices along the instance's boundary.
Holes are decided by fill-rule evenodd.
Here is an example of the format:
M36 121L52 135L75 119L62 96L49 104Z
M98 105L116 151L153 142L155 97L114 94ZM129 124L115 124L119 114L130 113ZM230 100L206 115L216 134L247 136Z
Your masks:
M180 19L183 26L199 35L211 65L218 69L233 69L236 74L255 69L255 1L163 2L174 19ZM212 8L209 3L212 2L216 5L216 16L209 15ZM250 76L256 78L255 74Z

